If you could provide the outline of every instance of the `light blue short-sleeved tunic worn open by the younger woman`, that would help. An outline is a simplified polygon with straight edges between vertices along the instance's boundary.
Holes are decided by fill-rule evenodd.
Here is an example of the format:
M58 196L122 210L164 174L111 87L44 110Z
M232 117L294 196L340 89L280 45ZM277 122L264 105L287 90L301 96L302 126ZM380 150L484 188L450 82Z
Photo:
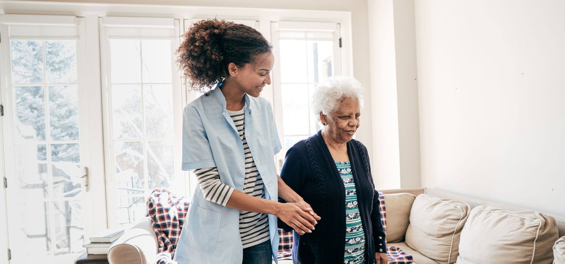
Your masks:
M186 105L182 118L182 170L217 167L223 184L242 191L245 155L225 109L221 83ZM265 198L277 201L274 155L281 150L270 102L245 95L245 137L264 183ZM277 217L268 215L272 254L279 249ZM240 211L206 200L199 187L190 204L175 252L182 264L241 264Z

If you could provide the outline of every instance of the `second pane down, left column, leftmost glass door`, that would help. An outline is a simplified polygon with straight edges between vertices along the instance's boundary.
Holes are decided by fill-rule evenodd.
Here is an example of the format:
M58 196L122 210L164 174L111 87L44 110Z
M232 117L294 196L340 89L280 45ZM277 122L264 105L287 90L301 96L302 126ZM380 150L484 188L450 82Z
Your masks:
M45 94L41 86L14 87L16 140L45 140Z

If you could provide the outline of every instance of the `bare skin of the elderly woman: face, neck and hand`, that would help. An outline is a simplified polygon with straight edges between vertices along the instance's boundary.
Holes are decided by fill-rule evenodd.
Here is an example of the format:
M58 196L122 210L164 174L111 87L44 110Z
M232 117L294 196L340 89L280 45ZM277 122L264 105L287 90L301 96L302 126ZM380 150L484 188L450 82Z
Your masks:
M326 123L322 128L321 136L324 138L325 145L328 146L329 153L332 154L334 160L349 161L347 142L353 138L360 126L360 115L359 100L350 97L341 99L339 108L329 116L320 113L320 122ZM375 263L388 263L386 253L375 253Z

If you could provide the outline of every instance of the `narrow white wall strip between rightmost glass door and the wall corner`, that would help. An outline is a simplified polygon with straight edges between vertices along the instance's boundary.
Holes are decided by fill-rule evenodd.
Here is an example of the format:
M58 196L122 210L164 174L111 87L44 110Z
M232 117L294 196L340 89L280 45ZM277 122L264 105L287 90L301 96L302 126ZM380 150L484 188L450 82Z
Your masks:
M368 1L373 111L372 171L377 189L400 187L394 15L390 1Z

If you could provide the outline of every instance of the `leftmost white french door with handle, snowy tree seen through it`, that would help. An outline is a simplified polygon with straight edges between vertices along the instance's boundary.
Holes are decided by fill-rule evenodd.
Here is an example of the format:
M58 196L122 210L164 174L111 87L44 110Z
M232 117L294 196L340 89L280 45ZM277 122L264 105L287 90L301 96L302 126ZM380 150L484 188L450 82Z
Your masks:
M10 263L70 263L93 222L85 19L0 15ZM95 131L95 130L94 130ZM102 177L97 175L94 177ZM99 219L101 218L101 219Z

